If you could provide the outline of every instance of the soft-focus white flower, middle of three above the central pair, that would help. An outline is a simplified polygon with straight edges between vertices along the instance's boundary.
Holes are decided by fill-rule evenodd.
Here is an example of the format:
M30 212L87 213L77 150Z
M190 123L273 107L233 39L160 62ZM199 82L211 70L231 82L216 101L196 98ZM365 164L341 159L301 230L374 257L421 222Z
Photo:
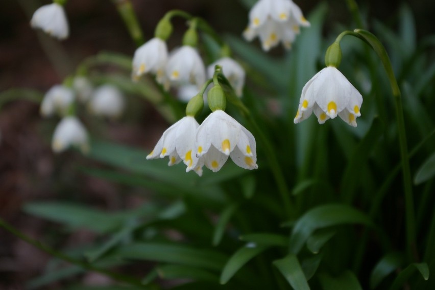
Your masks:
M197 50L182 46L171 53L166 65L166 77L177 86L190 83L201 88L205 82L205 66Z

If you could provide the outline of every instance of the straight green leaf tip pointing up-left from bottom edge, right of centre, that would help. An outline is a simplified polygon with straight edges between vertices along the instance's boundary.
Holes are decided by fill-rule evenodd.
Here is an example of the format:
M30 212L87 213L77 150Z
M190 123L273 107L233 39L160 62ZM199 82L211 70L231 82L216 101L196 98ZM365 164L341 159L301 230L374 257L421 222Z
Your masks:
M288 255L274 261L273 264L295 290L309 290L307 279L296 255Z

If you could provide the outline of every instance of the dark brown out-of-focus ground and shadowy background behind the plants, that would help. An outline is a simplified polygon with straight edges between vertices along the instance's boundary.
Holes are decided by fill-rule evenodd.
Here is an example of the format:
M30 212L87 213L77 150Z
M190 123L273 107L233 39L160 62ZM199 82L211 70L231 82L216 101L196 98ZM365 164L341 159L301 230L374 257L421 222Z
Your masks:
M65 9L70 35L61 42L31 29L29 25L33 12L48 3L39 0L1 1L0 93L15 87L32 88L43 93L74 72L83 59L101 51L133 55L135 44L113 2L68 1ZM305 0L295 3L308 15L320 2ZM414 13L418 38L434 33L435 1L405 3ZM248 21L246 6L236 0L132 0L132 4L147 39L153 37L159 19L172 9L182 9L205 18L219 33L241 35ZM370 19L378 19L393 28L397 23L398 10L403 5L395 0L358 1L358 4L369 19L369 26ZM328 31L337 22L348 29L354 28L345 1L328 1L328 5L325 35L329 35ZM183 21L177 20L175 24L175 34L169 41L170 48L179 45L185 29ZM259 47L258 41L254 41L253 45ZM106 127L107 136L128 145L151 148L167 124L145 101L139 111L140 116L134 122L120 120L110 123ZM118 185L76 172L74 166L86 162L77 153L54 155L50 148L50 131L55 122L42 120L39 106L34 102L17 100L0 108L0 216L34 238L46 238L46 233L56 226L23 214L21 206L28 201L69 195L108 210L134 207L141 202L135 197L127 197L120 202ZM63 248L92 238L91 233L79 231L65 235L61 241L45 241ZM22 288L23 282L42 271L48 259L46 254L0 230L0 289ZM98 282L105 278L89 273L81 279Z

